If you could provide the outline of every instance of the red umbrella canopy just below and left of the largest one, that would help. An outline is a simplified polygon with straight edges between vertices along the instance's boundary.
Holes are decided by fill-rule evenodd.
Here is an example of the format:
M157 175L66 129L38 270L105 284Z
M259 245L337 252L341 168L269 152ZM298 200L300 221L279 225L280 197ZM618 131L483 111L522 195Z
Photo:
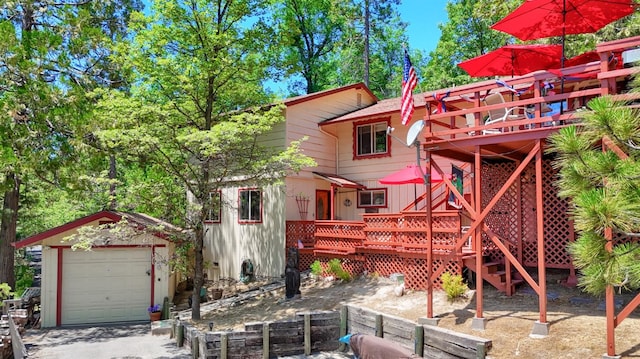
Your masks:
M458 64L470 76L524 75L560 67L560 45L506 45Z

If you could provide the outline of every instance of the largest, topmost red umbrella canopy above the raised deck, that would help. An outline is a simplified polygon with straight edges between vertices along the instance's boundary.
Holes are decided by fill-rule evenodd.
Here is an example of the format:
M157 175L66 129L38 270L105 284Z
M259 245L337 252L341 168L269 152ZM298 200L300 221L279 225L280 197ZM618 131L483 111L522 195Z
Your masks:
M527 0L491 28L522 41L587 34L633 11L633 0Z

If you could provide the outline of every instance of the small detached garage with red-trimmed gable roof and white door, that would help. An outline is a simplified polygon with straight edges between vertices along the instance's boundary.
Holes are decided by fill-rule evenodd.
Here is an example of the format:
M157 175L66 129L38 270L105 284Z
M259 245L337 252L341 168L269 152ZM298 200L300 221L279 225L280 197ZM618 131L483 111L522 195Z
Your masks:
M73 250L65 238L81 228L126 219L126 238L97 232L91 250ZM176 273L168 259L168 232L179 229L141 213L102 211L25 238L16 248L42 246L41 325L148 320L147 308L173 299Z

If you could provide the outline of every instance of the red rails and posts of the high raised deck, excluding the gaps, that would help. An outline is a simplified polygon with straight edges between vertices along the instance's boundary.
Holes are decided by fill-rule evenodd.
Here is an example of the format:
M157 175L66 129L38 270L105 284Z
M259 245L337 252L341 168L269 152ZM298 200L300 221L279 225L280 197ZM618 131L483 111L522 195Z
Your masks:
M621 68L623 64L619 64L618 68L610 68L609 58L610 55L619 54L627 49L634 49L640 47L640 36L626 38L621 40L610 41L597 45L597 51L600 53L600 61L594 61L587 64L581 64L577 66L567 67L559 70L541 70L531 74L517 76L510 79L502 79L508 86L526 89L532 85L530 95L526 95L525 98L516 98L512 101L507 101L505 104L494 104L474 106L469 101L478 103L481 102L483 96L488 93L494 93L496 91L507 93L508 89L502 87L496 83L495 80L486 80L473 84L462 85L449 89L437 90L437 94L448 93L449 96L445 100L448 105L447 112L444 113L431 113L427 111L426 120L430 121L430 126L425 132L427 141L430 140L449 140L464 137L482 136L482 130L496 129L504 127L514 127L515 131L528 131L542 127L546 125L550 118L559 122L559 120L572 120L576 118L576 114L572 112L575 108L571 108L574 99L581 99L584 97L593 97L608 94L610 92L615 93L615 80L621 79L634 73L640 72L640 66ZM556 94L542 96L541 88L543 82L552 79L557 82ZM560 81L564 79L563 81ZM590 80L596 80L598 87L588 90L579 89L579 84ZM558 88L560 84L563 84L564 88ZM576 89L575 86L578 86ZM569 91L567 91L569 89ZM576 91L574 91L574 89ZM612 91L613 90L613 91ZM637 100L638 97L634 95L620 96L623 99ZM510 96L506 96L510 97ZM433 106L437 101L431 96L425 94L425 101L427 106ZM569 109L565 109L561 114L553 117L543 116L541 113L541 106L545 103L555 103L566 101L569 105ZM484 125L482 117L489 110L500 108L512 108L512 107L533 107L535 111L532 111L529 118L522 121L509 121L508 125L504 123L497 123L492 125ZM475 114L476 118L479 117L479 126L468 127L465 115ZM473 133L475 132L475 133Z

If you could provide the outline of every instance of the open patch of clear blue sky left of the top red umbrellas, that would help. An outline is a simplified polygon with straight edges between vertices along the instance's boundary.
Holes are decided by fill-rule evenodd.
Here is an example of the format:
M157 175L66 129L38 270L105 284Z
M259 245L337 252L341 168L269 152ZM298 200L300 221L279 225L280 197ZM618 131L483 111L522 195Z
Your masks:
M436 48L440 39L439 23L447 21L447 0L402 0L400 16L407 22L409 48L425 55Z

